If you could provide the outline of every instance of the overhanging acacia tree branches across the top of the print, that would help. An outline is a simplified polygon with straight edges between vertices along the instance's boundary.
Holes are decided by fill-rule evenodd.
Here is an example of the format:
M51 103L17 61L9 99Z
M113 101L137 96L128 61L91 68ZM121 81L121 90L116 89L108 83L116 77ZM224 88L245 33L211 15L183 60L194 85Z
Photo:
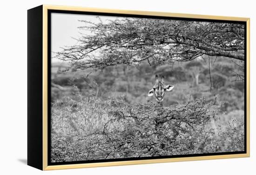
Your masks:
M101 19L100 19L101 21ZM244 60L244 25L166 19L117 18L85 22L78 44L55 57L71 61L73 70L111 65L138 66L190 61L198 56L226 56Z

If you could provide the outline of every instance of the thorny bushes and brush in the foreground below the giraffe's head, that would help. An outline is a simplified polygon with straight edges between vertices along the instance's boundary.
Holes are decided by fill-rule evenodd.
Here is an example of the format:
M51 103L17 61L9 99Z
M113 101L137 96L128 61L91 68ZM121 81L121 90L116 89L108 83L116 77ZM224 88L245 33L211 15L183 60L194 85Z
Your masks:
M170 156L243 150L243 123L208 127L216 100L179 106L91 98L56 101L52 107L53 162ZM65 107L65 111L63 111ZM239 132L237 132L239 131Z

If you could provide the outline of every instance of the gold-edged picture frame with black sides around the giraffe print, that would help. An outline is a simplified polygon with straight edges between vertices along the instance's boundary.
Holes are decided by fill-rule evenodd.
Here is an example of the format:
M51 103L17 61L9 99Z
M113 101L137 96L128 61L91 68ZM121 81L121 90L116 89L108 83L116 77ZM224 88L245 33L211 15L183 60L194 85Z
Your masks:
M48 164L48 18L50 10L59 11L74 11L74 12L100 12L100 13L115 13L115 14L129 14L129 15L145 15L156 17L175 17L184 19L213 19L213 20L227 20L227 21L242 21L246 23L246 153L243 154L227 154L227 155L212 155L212 156L185 156L175 158L156 158L143 160L128 160L116 162L92 162L92 163L77 163L77 164ZM40 25L38 25L40 24ZM38 33L33 30L38 30ZM250 57L250 19L239 17L224 17L224 16L210 16L197 14L183 14L171 12L146 12L146 11L130 11L117 9L101 9L88 7L74 7L74 6L51 6L42 5L28 10L28 165L41 170L53 169L73 169L73 168L88 168L88 167L102 167L102 166L117 166L117 165L132 165L145 163L162 163L162 162L180 162L180 161L195 161L195 160L209 160L209 159L224 159L224 158L239 158L249 157L250 155L250 129L249 129L249 97L250 97L250 75L249 75L249 57ZM41 32L41 33L40 33ZM36 41L36 42L34 42ZM39 43L41 45L36 45ZM36 50L36 51L35 51ZM40 56L41 58L35 58ZM34 60L33 60L34 59ZM35 60L37 59L37 61ZM33 66L39 66L41 69L36 70ZM42 75L36 87L32 87L36 77L32 75L33 71L41 71ZM37 73L37 72L36 72ZM33 81L33 83L32 83ZM34 86L34 85L33 85ZM41 88L40 88L41 87ZM35 93L40 94L40 99L33 99ZM36 97L34 97L36 98ZM40 100L38 103L34 103ZM32 109L33 108L33 109ZM40 109L40 110L37 110ZM37 138L35 138L37 137ZM37 160L38 159L38 160Z

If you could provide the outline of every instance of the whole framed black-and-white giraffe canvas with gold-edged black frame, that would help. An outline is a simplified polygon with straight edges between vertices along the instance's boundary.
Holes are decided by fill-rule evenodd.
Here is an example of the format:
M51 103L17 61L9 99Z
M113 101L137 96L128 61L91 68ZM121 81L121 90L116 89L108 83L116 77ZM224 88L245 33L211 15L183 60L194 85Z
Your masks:
M249 156L249 18L28 10L27 164Z

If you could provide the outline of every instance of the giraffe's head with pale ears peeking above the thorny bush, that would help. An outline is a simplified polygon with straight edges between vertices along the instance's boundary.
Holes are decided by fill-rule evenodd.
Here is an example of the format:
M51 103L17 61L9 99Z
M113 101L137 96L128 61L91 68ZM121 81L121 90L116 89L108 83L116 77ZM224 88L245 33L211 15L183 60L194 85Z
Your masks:
M157 102L162 102L165 91L171 91L174 88L173 85L164 85L164 76L162 76L161 81L158 80L158 75L155 75L155 85L148 92L148 96L155 95Z

